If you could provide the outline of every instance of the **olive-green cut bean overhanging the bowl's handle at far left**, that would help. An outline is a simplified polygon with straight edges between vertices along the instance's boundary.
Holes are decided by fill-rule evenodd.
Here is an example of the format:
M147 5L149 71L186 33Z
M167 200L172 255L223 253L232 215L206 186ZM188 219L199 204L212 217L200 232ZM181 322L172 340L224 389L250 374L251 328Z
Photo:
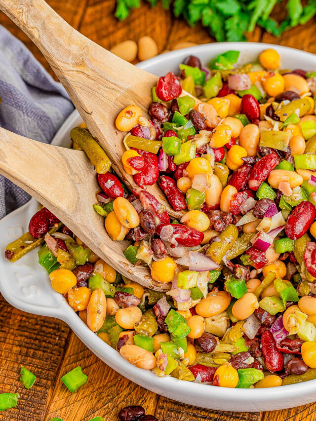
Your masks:
M63 227L63 223L60 222L55 227L53 227L51 230L48 231L48 234L52 234L53 232L56 232L61 227ZM12 243L8 244L6 246L5 250L5 257L10 262L16 262L17 260L21 259L22 256L29 253L30 251L36 249L44 242L44 236L40 238L33 238L30 232L25 232L25 234L21 235L20 238L12 241Z

